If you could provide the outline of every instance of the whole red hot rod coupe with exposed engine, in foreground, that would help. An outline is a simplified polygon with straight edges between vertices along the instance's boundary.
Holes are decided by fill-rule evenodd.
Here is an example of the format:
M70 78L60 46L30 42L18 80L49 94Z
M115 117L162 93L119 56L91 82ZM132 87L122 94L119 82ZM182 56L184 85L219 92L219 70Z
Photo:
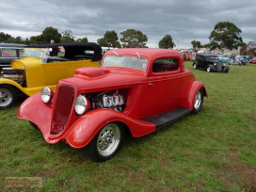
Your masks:
M181 53L129 48L104 54L101 68L80 68L27 98L18 117L40 129L48 143L85 148L96 162L117 154L124 131L145 136L189 113L199 113L204 85L184 69Z

